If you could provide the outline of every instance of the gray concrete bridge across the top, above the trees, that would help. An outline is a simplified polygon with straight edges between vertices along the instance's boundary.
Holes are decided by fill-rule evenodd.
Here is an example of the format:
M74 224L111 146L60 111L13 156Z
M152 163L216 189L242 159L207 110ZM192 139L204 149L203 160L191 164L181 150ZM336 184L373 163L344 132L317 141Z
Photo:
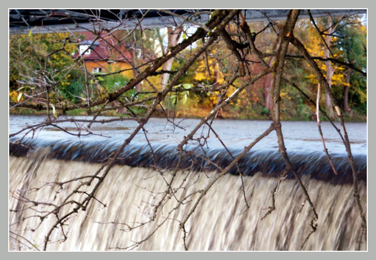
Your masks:
M167 9L149 10L143 20L140 18L146 9L10 9L9 33L25 34L82 31L97 28L127 29L141 24L145 28L203 24L209 20L209 9ZM206 11L206 12L205 12ZM288 9L246 9L244 16L248 22L278 21L287 17ZM200 12L199 15L195 15ZM313 17L367 14L366 9L312 9ZM171 15L176 13L178 16ZM299 18L308 18L308 10L300 12Z

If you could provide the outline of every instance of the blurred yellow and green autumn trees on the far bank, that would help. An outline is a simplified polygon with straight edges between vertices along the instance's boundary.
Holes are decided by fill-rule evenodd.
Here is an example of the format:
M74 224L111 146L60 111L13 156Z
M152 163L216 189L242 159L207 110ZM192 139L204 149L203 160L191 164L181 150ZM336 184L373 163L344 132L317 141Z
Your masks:
M300 19L295 27L295 35L304 43L313 57L333 58L366 72L367 68L367 28L363 16L350 17L320 17L314 22L310 19ZM250 28L255 34L256 47L266 53L273 53L278 48L277 33L284 22L258 22L250 23ZM323 33L321 36L317 28ZM111 37L115 39L126 38L122 41L130 54L127 69L120 73L119 67L114 61L106 61L107 71L85 71L85 62L78 59L78 43L84 39L80 34L54 33L54 34L34 34L32 31L28 35L10 35L9 41L9 96L11 106L24 102L28 96L32 95L34 87L32 80L40 78L46 81L49 79L56 88L49 92L50 98L67 99L71 102L80 102L85 96L100 97L101 92L110 93L120 86L123 86L131 78L142 72L148 61L151 61L162 54L168 52L177 43L186 39L194 32L195 28L154 28L143 31L117 31ZM240 32L236 27L228 28L230 35L236 39ZM326 44L324 43L324 41ZM174 71L189 59L192 52L204 44L204 39L198 41L190 48L183 50L171 61L166 62L161 70ZM217 104L220 97L228 97L235 89L242 84L237 79L233 85L223 93L212 91L209 93L197 90L197 87L210 87L223 83L233 71L236 59L228 48L224 48L224 42L220 41L214 45L186 71L179 79L179 84L191 84L192 89L188 90L189 95L184 100L175 101L175 115L178 117L200 117L208 114ZM329 49L327 48L329 47ZM63 51L57 51L61 50ZM245 51L245 50L242 50ZM293 82L298 82L311 97L315 97L317 92L317 82L309 65L298 58L298 53L294 47L289 47L291 56L286 62L286 77ZM112 53L111 55L115 55ZM247 59L257 60L254 53L249 53ZM267 63L272 66L274 56L267 58ZM367 113L367 82L366 77L359 71L348 68L333 61L316 60L324 75L327 77L332 91L338 103L342 105L346 116L351 120L366 120ZM252 75L262 70L263 65L253 63L249 67ZM46 75L46 71L50 75ZM231 72L231 73L230 73ZM39 75L41 73L41 75ZM43 75L42 75L43 74ZM142 81L135 89L128 91L129 97L143 96L144 92L162 89L167 84L172 73L160 73L148 80ZM239 119L269 119L272 108L271 86L272 74L255 82L241 95L223 108L220 116L224 118ZM48 80L45 83L49 84ZM101 88L92 86L100 85ZM99 90L98 90L99 89ZM59 95L58 93L59 92ZM314 119L315 108L303 99L296 89L288 85L281 88L281 117L284 120L312 120ZM325 93L322 94L322 102L330 114L330 106L325 104ZM209 98L208 98L209 96ZM284 97L288 97L284 99ZM166 105L171 100L165 101ZM140 108L142 110L142 108ZM26 113L27 108L11 109L11 113ZM86 113L80 109L74 113ZM110 115L115 115L113 112Z

